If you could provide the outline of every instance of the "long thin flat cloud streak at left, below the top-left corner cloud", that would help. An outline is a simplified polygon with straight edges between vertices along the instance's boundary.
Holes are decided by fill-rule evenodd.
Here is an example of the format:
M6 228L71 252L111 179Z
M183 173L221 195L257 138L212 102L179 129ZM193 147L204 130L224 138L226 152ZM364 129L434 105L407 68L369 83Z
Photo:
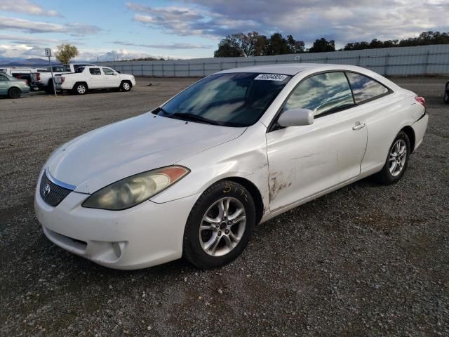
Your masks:
M50 22L36 22L20 18L0 16L0 29L16 29L28 33L67 33L72 35L94 34L102 29L93 25L72 23L59 25Z

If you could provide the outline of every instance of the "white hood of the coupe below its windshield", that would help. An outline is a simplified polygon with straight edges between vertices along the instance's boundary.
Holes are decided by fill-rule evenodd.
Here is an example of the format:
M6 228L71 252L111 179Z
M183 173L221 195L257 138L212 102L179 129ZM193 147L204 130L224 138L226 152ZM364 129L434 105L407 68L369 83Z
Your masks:
M86 133L62 145L46 170L76 192L175 164L241 136L246 128L186 122L147 113Z

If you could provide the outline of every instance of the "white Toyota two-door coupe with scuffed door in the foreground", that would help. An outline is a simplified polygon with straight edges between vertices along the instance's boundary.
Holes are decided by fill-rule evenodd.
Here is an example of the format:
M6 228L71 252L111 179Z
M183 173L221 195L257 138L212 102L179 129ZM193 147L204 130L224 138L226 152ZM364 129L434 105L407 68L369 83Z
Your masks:
M59 147L36 216L107 267L217 267L258 223L366 176L396 183L427 121L423 98L361 67L225 70Z

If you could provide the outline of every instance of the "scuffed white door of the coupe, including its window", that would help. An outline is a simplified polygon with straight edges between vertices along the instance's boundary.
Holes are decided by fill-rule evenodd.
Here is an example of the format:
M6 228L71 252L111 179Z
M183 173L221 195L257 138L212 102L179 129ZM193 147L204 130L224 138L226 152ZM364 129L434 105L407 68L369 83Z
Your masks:
M283 110L312 110L314 123L267 133L272 211L360 174L367 131L364 113L352 107L353 95L343 72L314 75L293 90Z

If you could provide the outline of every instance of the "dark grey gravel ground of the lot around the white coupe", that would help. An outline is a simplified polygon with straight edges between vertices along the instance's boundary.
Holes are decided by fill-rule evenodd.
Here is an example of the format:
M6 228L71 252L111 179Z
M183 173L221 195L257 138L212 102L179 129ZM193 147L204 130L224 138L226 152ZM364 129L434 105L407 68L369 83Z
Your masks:
M0 99L1 336L449 336L449 105L441 78L394 79L427 98L430 115L401 182L362 180L259 225L226 267L200 271L177 260L108 270L51 244L33 210L48 155L192 81L147 78L130 93Z

